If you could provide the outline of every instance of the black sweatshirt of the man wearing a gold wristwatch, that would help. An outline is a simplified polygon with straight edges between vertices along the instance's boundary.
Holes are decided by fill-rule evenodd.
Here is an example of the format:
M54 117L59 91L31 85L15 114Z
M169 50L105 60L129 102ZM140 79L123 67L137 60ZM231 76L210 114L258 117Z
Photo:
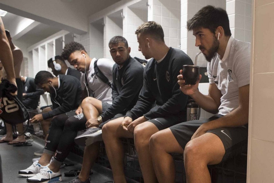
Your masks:
M100 115L103 121L132 109L143 86L143 73L144 67L132 57L125 61L121 69L119 65L113 65L112 105Z

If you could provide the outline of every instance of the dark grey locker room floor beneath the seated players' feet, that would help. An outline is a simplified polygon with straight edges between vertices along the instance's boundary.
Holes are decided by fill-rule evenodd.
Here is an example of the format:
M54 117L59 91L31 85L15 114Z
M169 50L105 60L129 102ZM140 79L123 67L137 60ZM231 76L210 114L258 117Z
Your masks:
M1 139L1 137L0 137ZM0 144L0 154L2 158L2 170L3 170L3 183L25 183L26 178L18 176L18 171L28 168L33 162L33 152L43 148L43 141L35 138L32 142L32 146L25 147L13 147L6 143ZM74 163L74 166L68 166L61 169L63 182L69 182L74 177L64 177L64 172L70 170L81 169L82 157L70 153L65 163ZM93 167L93 174L91 177L91 183L104 183L112 181L111 170L102 167L98 164ZM128 183L135 183L135 181L128 179Z

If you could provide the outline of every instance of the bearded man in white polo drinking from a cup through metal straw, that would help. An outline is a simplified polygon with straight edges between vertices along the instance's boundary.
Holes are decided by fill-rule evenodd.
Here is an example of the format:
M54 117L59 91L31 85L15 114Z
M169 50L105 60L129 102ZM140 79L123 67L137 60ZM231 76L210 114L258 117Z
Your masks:
M152 135L149 147L160 183L175 182L171 153L183 154L188 183L211 183L207 165L223 162L247 147L250 43L231 36L226 12L214 6L201 8L188 20L187 28L208 61L208 95L198 90L201 75L195 85L185 85L182 75L178 83L201 108L218 114Z

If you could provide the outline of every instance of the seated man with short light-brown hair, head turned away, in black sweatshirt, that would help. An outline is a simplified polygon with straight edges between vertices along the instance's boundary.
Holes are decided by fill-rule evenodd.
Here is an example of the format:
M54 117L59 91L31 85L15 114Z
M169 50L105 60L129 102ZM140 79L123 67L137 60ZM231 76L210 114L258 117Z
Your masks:
M125 183L123 143L121 138L134 138L145 182L157 182L149 153L152 134L185 120L188 96L180 91L177 75L183 65L193 65L181 50L169 48L164 42L161 25L150 21L135 32L139 51L150 60L144 70L143 88L137 104L102 128L114 182Z

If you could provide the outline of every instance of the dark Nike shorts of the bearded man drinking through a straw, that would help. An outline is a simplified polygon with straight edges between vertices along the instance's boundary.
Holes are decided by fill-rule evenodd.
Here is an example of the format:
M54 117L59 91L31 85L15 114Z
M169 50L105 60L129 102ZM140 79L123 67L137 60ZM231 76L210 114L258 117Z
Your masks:
M192 135L203 123L213 121L221 117L222 115L215 115L209 119L187 121L170 127L170 130L181 147L185 149L185 145L191 140ZM208 130L206 133L214 133L221 139L225 149L222 162L242 153L247 149L248 125L235 128L216 128L213 130Z

